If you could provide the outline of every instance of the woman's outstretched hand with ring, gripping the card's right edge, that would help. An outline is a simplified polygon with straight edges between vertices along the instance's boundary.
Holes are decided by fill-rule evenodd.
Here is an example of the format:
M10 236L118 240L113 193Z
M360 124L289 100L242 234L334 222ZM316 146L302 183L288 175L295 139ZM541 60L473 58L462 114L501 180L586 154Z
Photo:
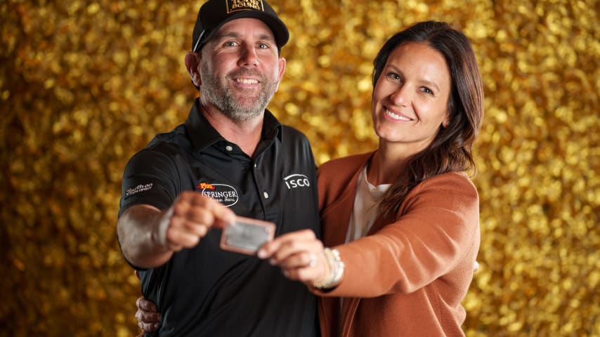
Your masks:
M268 258L271 265L278 265L288 279L311 286L325 279L329 270L323 255L323 244L312 230L299 230L276 237L259 249L258 256Z

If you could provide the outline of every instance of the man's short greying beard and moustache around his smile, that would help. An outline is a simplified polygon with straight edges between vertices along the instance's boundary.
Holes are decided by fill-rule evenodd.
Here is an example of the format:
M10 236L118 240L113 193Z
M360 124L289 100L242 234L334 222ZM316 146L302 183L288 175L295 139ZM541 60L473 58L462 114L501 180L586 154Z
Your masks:
M242 68L234 73L228 74L228 77L242 77L244 74L256 75L256 72ZM227 85L227 79L222 79L213 76L209 72L206 62L202 62L202 96L217 107L223 114L234 121L248 121L254 117L260 116L270 102L275 91L277 91L278 81L270 81L263 74L259 74L260 83L263 84L263 89L254 100L238 93L237 96ZM244 102L243 98L246 98Z

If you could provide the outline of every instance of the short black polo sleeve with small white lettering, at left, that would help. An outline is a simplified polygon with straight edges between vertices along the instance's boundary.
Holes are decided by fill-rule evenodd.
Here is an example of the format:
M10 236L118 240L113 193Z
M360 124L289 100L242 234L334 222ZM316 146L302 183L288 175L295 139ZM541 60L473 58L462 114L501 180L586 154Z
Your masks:
M148 204L168 209L179 190L179 174L174 160L153 149L141 150L125 166L119 217L133 205Z

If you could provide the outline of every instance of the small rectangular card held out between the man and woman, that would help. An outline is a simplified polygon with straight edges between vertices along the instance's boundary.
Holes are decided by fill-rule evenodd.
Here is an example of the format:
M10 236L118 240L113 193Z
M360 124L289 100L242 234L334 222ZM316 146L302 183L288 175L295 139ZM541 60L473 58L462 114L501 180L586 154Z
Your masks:
M221 249L254 255L274 235L274 223L238 216L235 223L223 227Z

